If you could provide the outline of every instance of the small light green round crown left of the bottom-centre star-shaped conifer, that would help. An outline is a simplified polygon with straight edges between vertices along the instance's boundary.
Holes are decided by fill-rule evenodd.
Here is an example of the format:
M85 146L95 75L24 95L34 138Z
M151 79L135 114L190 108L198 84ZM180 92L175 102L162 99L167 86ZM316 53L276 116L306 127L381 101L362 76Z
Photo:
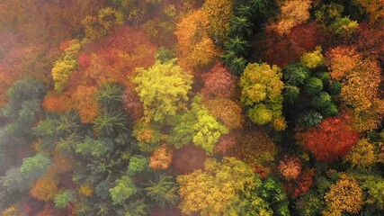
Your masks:
M116 185L109 190L114 205L122 205L131 195L137 193L136 186L129 176L122 176L116 180L115 184Z

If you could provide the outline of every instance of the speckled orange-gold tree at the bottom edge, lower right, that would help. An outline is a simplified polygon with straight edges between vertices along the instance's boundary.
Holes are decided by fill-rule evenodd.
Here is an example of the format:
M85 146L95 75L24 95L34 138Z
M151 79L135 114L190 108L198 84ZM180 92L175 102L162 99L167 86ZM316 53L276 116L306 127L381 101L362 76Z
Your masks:
M358 213L362 209L362 188L349 175L341 175L336 184L324 196L326 200L325 215L334 215L343 211Z

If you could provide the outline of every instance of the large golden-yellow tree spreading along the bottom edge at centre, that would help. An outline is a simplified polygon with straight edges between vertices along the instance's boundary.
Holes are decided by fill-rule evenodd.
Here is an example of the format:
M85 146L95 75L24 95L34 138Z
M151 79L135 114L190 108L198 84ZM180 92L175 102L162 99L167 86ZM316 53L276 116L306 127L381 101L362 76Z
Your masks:
M261 185L249 166L232 157L224 157L221 163L207 159L204 171L179 175L177 182L182 199L179 208L184 214L199 212L202 216L238 215L242 190ZM260 202L263 200L258 203L262 205Z

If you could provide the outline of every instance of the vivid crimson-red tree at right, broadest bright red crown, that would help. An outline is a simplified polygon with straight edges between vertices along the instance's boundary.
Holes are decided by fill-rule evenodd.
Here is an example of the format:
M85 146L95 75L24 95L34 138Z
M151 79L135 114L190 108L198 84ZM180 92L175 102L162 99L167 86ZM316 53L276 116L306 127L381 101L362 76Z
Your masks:
M349 113L327 118L316 128L297 134L299 142L310 150L317 160L333 162L345 156L360 138L352 129Z

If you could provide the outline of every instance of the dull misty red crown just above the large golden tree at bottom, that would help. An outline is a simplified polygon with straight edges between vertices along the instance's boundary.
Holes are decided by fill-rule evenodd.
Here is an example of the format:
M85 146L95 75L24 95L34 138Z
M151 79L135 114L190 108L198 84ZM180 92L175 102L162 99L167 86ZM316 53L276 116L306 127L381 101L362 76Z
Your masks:
M204 168L204 161L207 158L202 148L194 145L175 150L174 152L174 168L179 174L192 173L196 169Z

